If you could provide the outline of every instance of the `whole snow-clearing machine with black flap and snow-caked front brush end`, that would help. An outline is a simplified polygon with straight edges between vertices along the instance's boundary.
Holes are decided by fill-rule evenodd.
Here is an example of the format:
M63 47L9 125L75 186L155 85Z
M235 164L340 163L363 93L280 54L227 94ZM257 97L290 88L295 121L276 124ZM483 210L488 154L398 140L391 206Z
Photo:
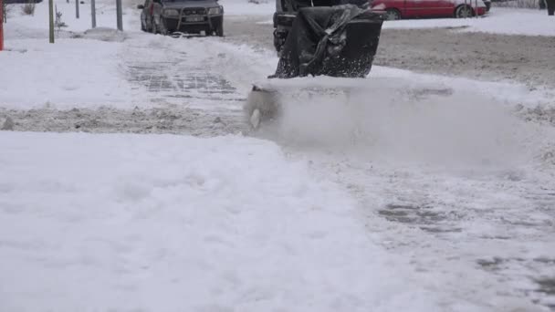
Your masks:
M245 109L252 128L278 120L291 99L348 97L352 88L363 88L360 80L371 71L384 20L384 12L372 11L370 1L276 0L278 68L248 95ZM327 80L315 79L322 76Z

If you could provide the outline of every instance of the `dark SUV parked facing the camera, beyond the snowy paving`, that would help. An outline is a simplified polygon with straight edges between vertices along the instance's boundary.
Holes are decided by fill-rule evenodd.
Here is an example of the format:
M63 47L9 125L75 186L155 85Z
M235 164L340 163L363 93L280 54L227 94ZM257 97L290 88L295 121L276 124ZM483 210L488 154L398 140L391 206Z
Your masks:
M143 31L224 36L224 7L217 0L145 0L137 7Z

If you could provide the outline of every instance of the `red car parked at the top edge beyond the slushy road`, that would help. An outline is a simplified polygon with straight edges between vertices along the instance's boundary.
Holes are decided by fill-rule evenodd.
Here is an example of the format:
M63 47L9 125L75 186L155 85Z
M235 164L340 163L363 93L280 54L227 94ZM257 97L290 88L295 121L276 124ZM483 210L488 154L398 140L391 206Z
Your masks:
M482 0L373 0L372 9L387 20L418 17L471 17L487 13Z

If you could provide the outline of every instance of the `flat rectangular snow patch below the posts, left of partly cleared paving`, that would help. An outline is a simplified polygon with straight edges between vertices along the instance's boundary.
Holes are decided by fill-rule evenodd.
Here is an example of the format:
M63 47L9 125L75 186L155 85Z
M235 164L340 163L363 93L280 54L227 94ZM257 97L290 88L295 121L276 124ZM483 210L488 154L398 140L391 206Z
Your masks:
M8 47L0 55L3 107L131 107L131 86L119 68L120 43L14 40Z

